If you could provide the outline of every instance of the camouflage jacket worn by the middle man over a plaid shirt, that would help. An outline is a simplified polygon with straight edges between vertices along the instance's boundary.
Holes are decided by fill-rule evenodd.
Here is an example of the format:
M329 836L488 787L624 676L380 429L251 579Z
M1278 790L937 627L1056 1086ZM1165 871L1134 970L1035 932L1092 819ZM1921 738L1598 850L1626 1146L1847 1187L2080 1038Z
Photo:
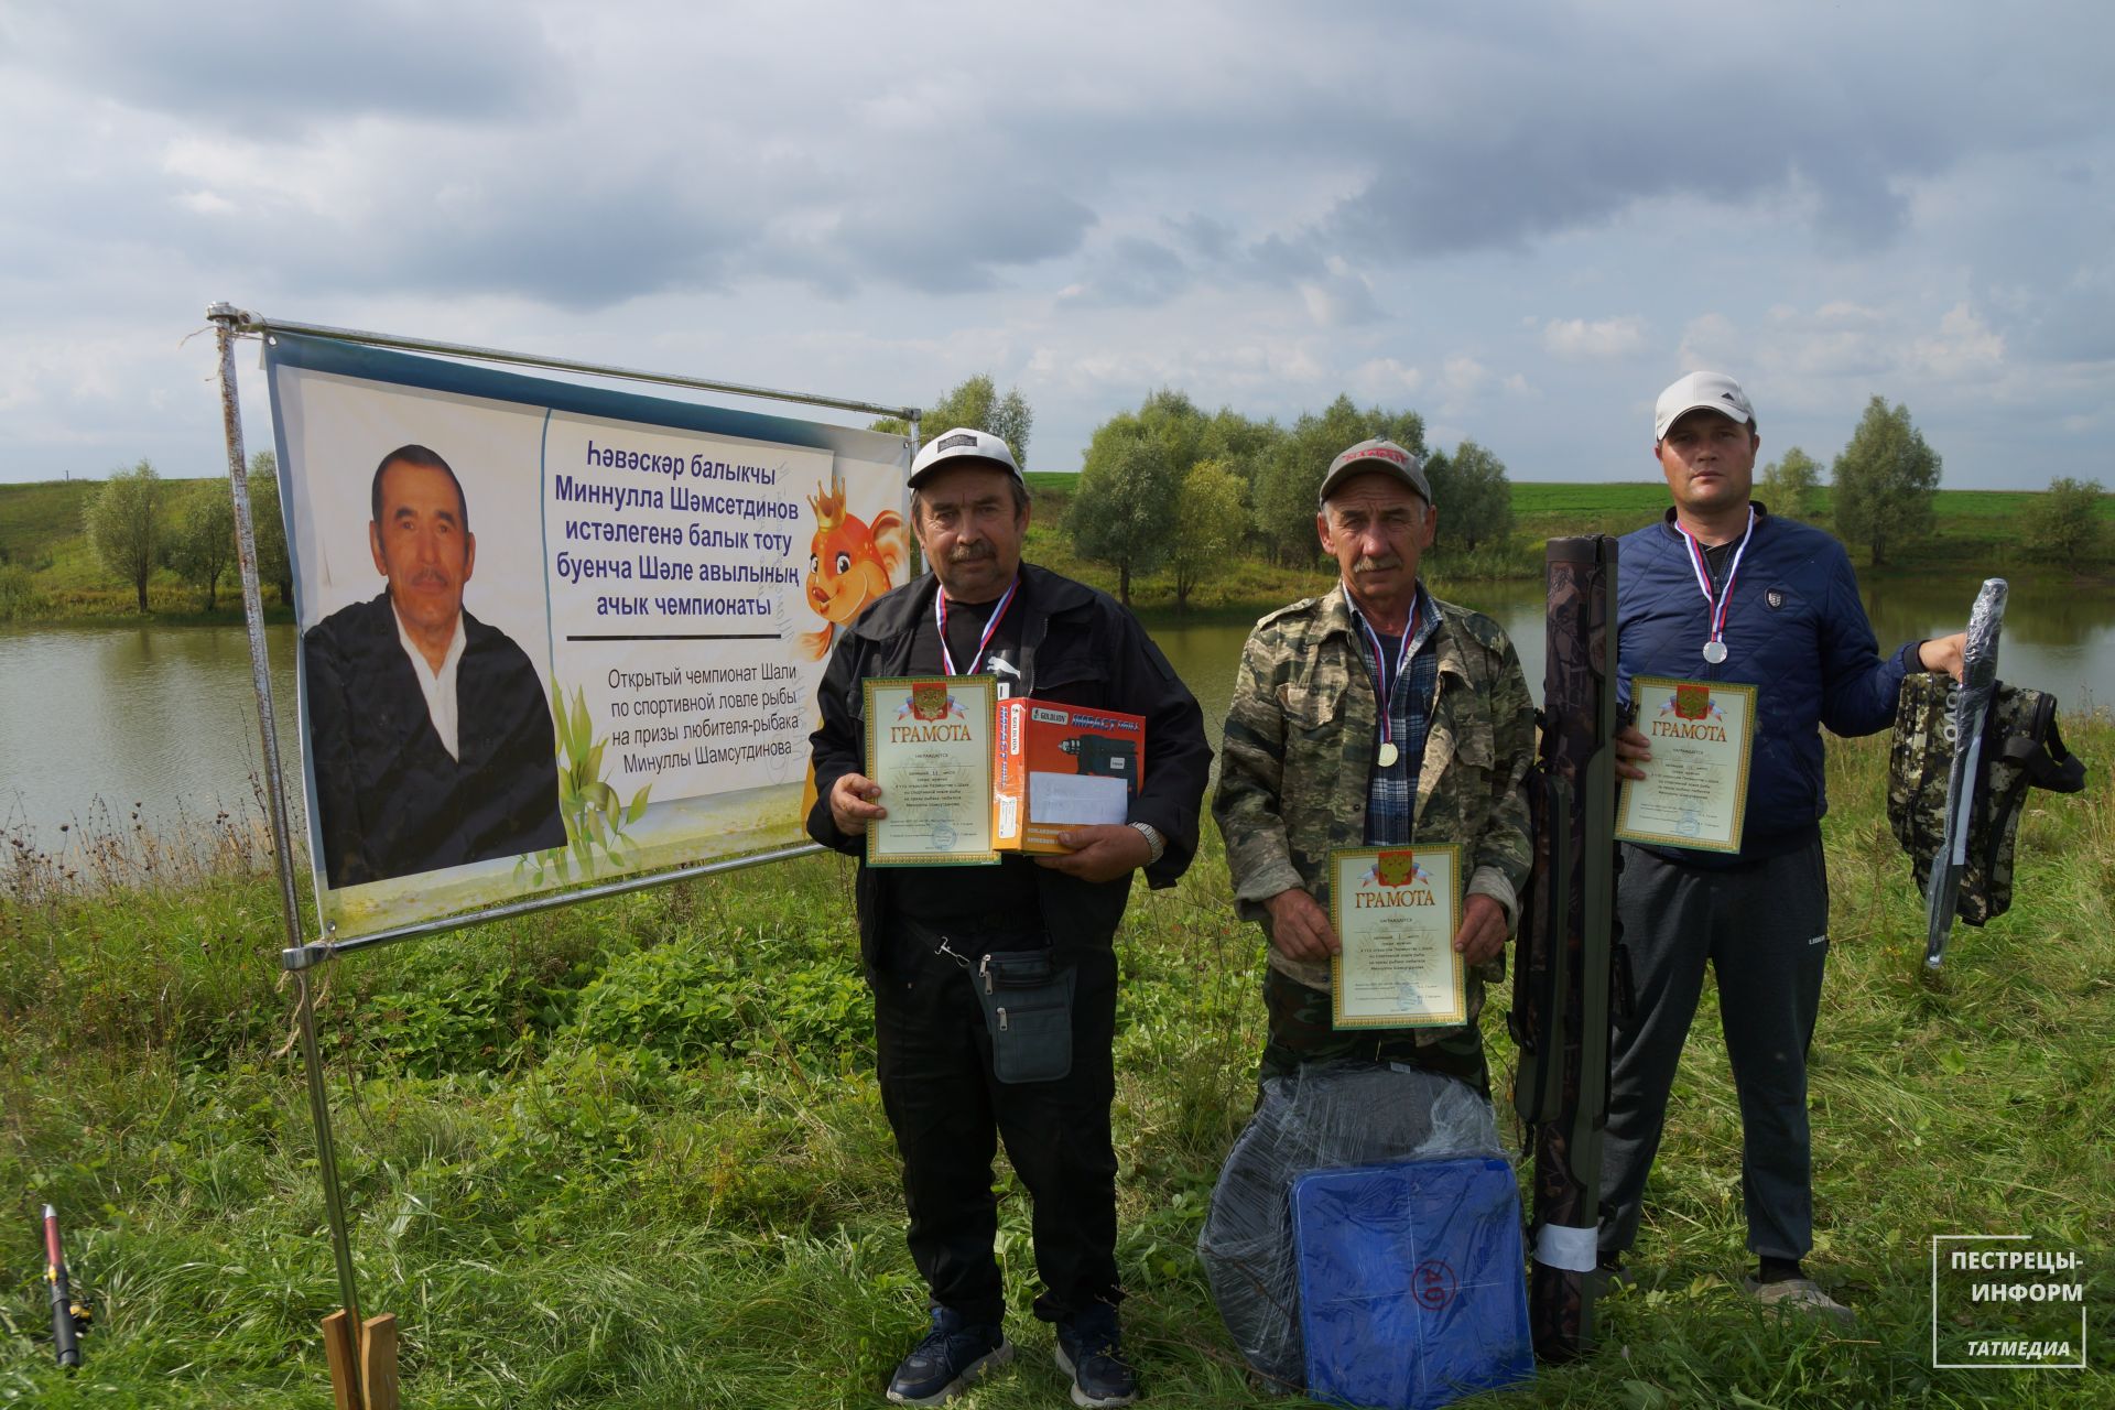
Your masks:
M1491 896L1512 922L1533 852L1523 780L1535 753L1535 706L1495 621L1438 598L1434 607L1438 685L1411 835L1461 843L1468 894ZM1242 649L1212 816L1227 837L1235 903L1265 928L1261 903L1292 886L1326 909L1330 848L1364 846L1379 706L1354 630L1339 583L1256 621ZM1277 970L1328 989L1328 964L1269 953ZM1502 977L1504 958L1470 975L1472 1017L1483 1002L1478 979ZM1449 1032L1426 1029L1421 1040Z

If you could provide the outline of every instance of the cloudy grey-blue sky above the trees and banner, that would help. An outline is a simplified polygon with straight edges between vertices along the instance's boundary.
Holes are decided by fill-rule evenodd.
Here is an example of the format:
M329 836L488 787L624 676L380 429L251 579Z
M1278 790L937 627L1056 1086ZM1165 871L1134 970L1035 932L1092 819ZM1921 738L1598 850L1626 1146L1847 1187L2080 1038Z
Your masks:
M1516 480L1906 402L2115 486L2115 8L0 0L0 480L224 465L203 309L922 404L1349 391ZM247 435L269 444L254 351ZM1320 471L1320 467L1318 467Z

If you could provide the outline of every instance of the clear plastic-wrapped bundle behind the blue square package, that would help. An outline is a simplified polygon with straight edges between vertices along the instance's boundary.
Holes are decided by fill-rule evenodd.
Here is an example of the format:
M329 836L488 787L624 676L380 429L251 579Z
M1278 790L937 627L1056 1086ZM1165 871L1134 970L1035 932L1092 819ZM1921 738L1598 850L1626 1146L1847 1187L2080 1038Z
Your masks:
M1284 1389L1307 1383L1294 1180L1402 1158L1500 1154L1491 1103L1455 1078L1396 1063L1311 1063L1265 1080L1197 1237L1233 1344Z

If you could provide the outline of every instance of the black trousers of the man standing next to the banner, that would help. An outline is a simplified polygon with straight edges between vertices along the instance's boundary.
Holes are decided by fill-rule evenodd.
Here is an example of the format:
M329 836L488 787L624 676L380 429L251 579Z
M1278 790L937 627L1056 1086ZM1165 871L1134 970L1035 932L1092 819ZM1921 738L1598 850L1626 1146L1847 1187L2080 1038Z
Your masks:
M1117 1302L1115 1097L1117 958L1106 945L1060 945L1079 970L1072 996L1072 1072L1055 1082L992 1078L992 1038L971 975L928 945L890 936L893 972L873 991L882 1108L903 1156L909 1247L933 1302L973 1323L998 1323L1005 1287L992 1241L996 1137L1034 1201L1043 1321L1089 1302ZM983 945L952 939L971 962ZM916 964L909 962L916 953Z

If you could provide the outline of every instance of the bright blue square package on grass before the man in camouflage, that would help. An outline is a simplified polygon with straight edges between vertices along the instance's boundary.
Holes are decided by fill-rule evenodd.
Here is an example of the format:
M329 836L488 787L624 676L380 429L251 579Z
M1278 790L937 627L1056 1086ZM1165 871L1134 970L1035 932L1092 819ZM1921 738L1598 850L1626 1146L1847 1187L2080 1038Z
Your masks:
M1301 1175L1292 1228L1316 1399L1434 1410L1535 1374L1506 1161Z

